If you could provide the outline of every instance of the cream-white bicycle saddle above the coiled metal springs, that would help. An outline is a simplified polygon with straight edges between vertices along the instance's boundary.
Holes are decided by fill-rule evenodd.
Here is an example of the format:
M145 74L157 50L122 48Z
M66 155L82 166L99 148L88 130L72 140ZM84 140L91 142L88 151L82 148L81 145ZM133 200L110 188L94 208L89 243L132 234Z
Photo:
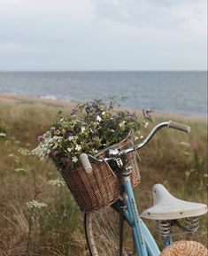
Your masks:
M207 206L174 198L161 184L153 186L154 206L145 210L141 217L151 220L176 220L207 213Z

